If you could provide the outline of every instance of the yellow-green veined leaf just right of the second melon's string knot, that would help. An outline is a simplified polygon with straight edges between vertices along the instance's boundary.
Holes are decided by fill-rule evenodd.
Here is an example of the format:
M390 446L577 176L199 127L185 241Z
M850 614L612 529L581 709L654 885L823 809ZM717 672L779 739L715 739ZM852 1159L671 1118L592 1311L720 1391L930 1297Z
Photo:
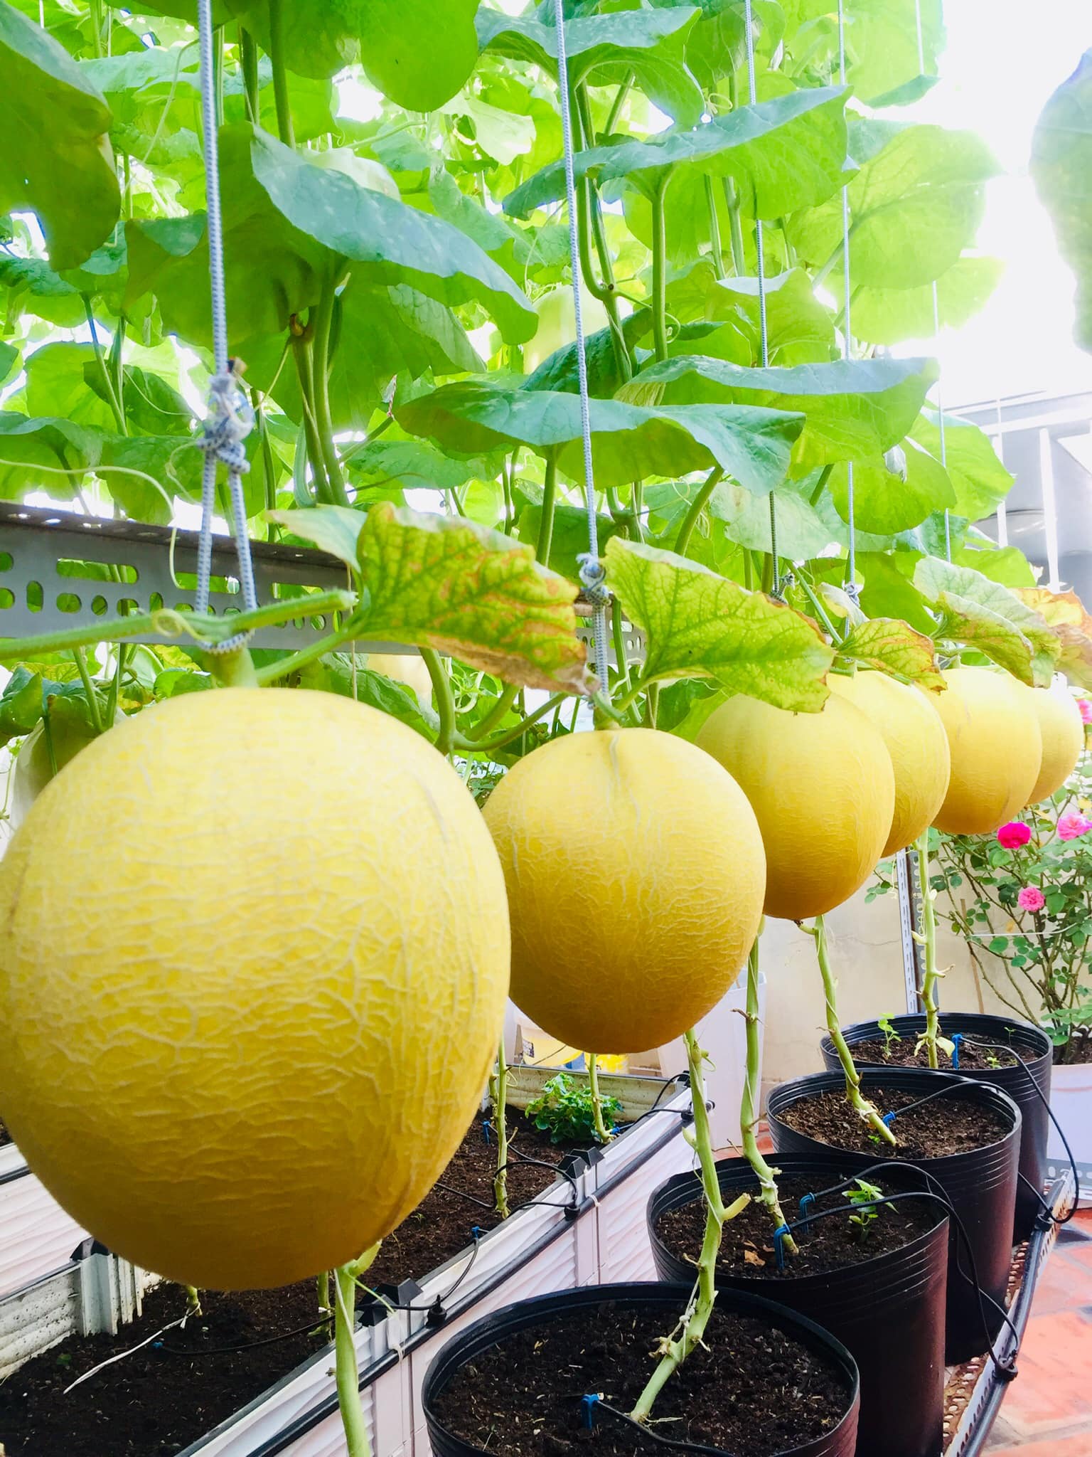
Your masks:
M612 592L645 634L644 678L712 678L729 694L794 712L826 702L834 653L799 612L620 536L607 543L606 562Z

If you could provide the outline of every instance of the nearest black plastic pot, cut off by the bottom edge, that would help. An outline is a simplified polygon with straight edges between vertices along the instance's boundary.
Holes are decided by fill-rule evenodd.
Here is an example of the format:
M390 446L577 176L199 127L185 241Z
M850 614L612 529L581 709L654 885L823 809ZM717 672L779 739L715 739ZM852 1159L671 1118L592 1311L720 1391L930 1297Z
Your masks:
M435 1412L435 1400L456 1371L469 1365L482 1351L499 1345L517 1330L526 1330L529 1326L547 1321L558 1311L579 1310L588 1305L607 1303L623 1307L661 1305L664 1307L664 1319L668 1321L671 1311L677 1313L686 1305L692 1289L693 1279L689 1279L684 1285L588 1285L581 1289L556 1291L552 1295L536 1295L534 1300L521 1300L515 1305L507 1305L504 1310L486 1316L483 1320L476 1320L473 1326L469 1326L453 1340L448 1340L425 1374L421 1399L428 1423L428 1440L432 1444L435 1457L489 1457L483 1448L472 1447L460 1437L448 1432L438 1421ZM728 1308L740 1314L769 1319L770 1326L783 1330L810 1349L821 1352L846 1372L850 1399L847 1410L837 1426L815 1441L807 1442L804 1447L786 1448L778 1457L853 1457L860 1383L856 1362L849 1351L814 1321L805 1320L802 1316L786 1310L783 1305L776 1305L773 1301L760 1300L757 1295L725 1291L719 1297L718 1305L719 1308ZM604 1418L604 1421L610 1421L610 1418Z

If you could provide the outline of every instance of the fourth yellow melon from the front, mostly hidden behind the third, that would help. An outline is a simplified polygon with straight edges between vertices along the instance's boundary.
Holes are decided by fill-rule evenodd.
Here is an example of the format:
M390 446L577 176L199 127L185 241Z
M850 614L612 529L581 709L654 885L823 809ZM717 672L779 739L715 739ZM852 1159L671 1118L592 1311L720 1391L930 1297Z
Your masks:
M830 688L872 720L895 771L895 813L884 855L911 845L943 804L951 774L948 736L933 707L935 694L914 692L887 673L831 673Z

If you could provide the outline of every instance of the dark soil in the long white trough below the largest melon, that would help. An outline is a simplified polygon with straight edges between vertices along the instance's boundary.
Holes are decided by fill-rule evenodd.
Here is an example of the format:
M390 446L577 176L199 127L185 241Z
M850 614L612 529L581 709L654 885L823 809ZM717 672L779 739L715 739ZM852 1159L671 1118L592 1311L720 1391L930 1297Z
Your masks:
M508 1109L515 1148L556 1164L568 1151L550 1145L517 1109ZM470 1243L470 1228L492 1228L496 1147L476 1120L441 1183L489 1201L478 1208L434 1189L383 1241L368 1279L396 1284L428 1275ZM510 1201L534 1198L553 1182L552 1167L510 1167ZM293 1367L320 1352L329 1336L312 1281L284 1289L202 1294L204 1314L166 1330L162 1340L127 1355L64 1394L100 1361L130 1351L186 1311L186 1292L165 1284L144 1297L144 1313L116 1336L74 1336L0 1383L0 1447L6 1457L173 1457L261 1396ZM224 1349L243 1346L242 1351Z

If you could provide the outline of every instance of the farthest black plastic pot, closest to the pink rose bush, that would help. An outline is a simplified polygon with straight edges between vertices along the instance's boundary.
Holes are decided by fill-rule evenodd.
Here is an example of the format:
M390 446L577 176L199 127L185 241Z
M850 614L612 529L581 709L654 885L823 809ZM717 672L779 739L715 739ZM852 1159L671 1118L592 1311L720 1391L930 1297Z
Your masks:
M925 1014L893 1017L891 1026L906 1042L916 1042L925 1032ZM1010 1068L961 1067L960 1077L973 1078L977 1083L992 1083L996 1088L1003 1088L1024 1115L1021 1179L1016 1185L1016 1238L1026 1240L1035 1220L1042 1212L1040 1196L1047 1183L1047 1138L1050 1134L1047 1103L1050 1103L1050 1068L1054 1061L1054 1045L1041 1027L1005 1017L987 1017L974 1011L942 1013L941 1027L945 1037L961 1033L980 1042L1000 1042L1024 1059L1025 1067L1019 1064ZM872 1039L884 1036L878 1021L856 1021L852 1027L843 1027L842 1033L850 1049L858 1042L872 1042ZM820 1046L827 1069L837 1072L840 1064L834 1043L830 1037L824 1037ZM862 1064L862 1067L882 1067L882 1064ZM1035 1087L1040 1088L1042 1097L1035 1091Z

